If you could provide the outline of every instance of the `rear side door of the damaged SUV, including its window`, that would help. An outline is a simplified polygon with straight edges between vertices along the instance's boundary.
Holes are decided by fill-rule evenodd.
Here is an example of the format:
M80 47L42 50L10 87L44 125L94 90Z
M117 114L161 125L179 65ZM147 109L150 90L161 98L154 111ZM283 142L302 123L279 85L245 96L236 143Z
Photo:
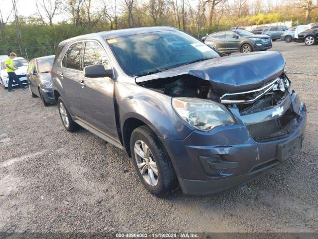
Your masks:
M62 61L62 71L59 73L64 90L64 103L72 115L82 117L82 107L79 97L79 77L83 75L81 57L83 42L72 44Z

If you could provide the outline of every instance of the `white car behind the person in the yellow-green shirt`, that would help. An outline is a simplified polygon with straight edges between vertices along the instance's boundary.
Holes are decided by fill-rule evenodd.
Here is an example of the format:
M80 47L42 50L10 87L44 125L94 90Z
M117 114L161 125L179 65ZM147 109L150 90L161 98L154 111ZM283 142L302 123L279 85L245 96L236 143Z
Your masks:
M18 68L14 71L15 74L19 77L23 85L27 85L28 82L26 80L26 71L28 69L29 62L23 57L15 57L13 61L15 66ZM0 83L2 84L4 89L7 89L9 77L8 73L6 72L5 59L1 59L0 68ZM17 84L13 82L12 86L17 86Z

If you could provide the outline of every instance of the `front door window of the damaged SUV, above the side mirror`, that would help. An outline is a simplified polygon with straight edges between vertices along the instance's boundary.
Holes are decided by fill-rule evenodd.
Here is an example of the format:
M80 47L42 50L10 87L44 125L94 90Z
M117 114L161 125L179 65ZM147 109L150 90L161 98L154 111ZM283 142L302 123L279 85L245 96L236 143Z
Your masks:
M106 69L109 69L108 58L103 48L95 41L87 41L84 51L83 67L103 64Z

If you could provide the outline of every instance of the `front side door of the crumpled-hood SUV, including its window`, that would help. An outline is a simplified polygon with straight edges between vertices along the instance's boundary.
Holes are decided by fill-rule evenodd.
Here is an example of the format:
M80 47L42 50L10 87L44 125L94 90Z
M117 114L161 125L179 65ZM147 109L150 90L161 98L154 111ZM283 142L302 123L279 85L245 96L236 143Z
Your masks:
M83 67L103 64L111 69L108 56L102 45L96 40L85 42ZM118 141L114 108L114 80L108 77L80 77L80 98L84 119Z

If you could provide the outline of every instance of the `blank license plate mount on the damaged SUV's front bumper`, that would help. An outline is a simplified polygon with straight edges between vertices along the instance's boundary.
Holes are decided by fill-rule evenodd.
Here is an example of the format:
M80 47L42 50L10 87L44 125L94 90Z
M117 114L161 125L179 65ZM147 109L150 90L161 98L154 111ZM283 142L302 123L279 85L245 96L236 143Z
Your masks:
M280 162L285 161L299 149L302 148L302 134L298 134L297 137L278 144L277 147L277 160Z

